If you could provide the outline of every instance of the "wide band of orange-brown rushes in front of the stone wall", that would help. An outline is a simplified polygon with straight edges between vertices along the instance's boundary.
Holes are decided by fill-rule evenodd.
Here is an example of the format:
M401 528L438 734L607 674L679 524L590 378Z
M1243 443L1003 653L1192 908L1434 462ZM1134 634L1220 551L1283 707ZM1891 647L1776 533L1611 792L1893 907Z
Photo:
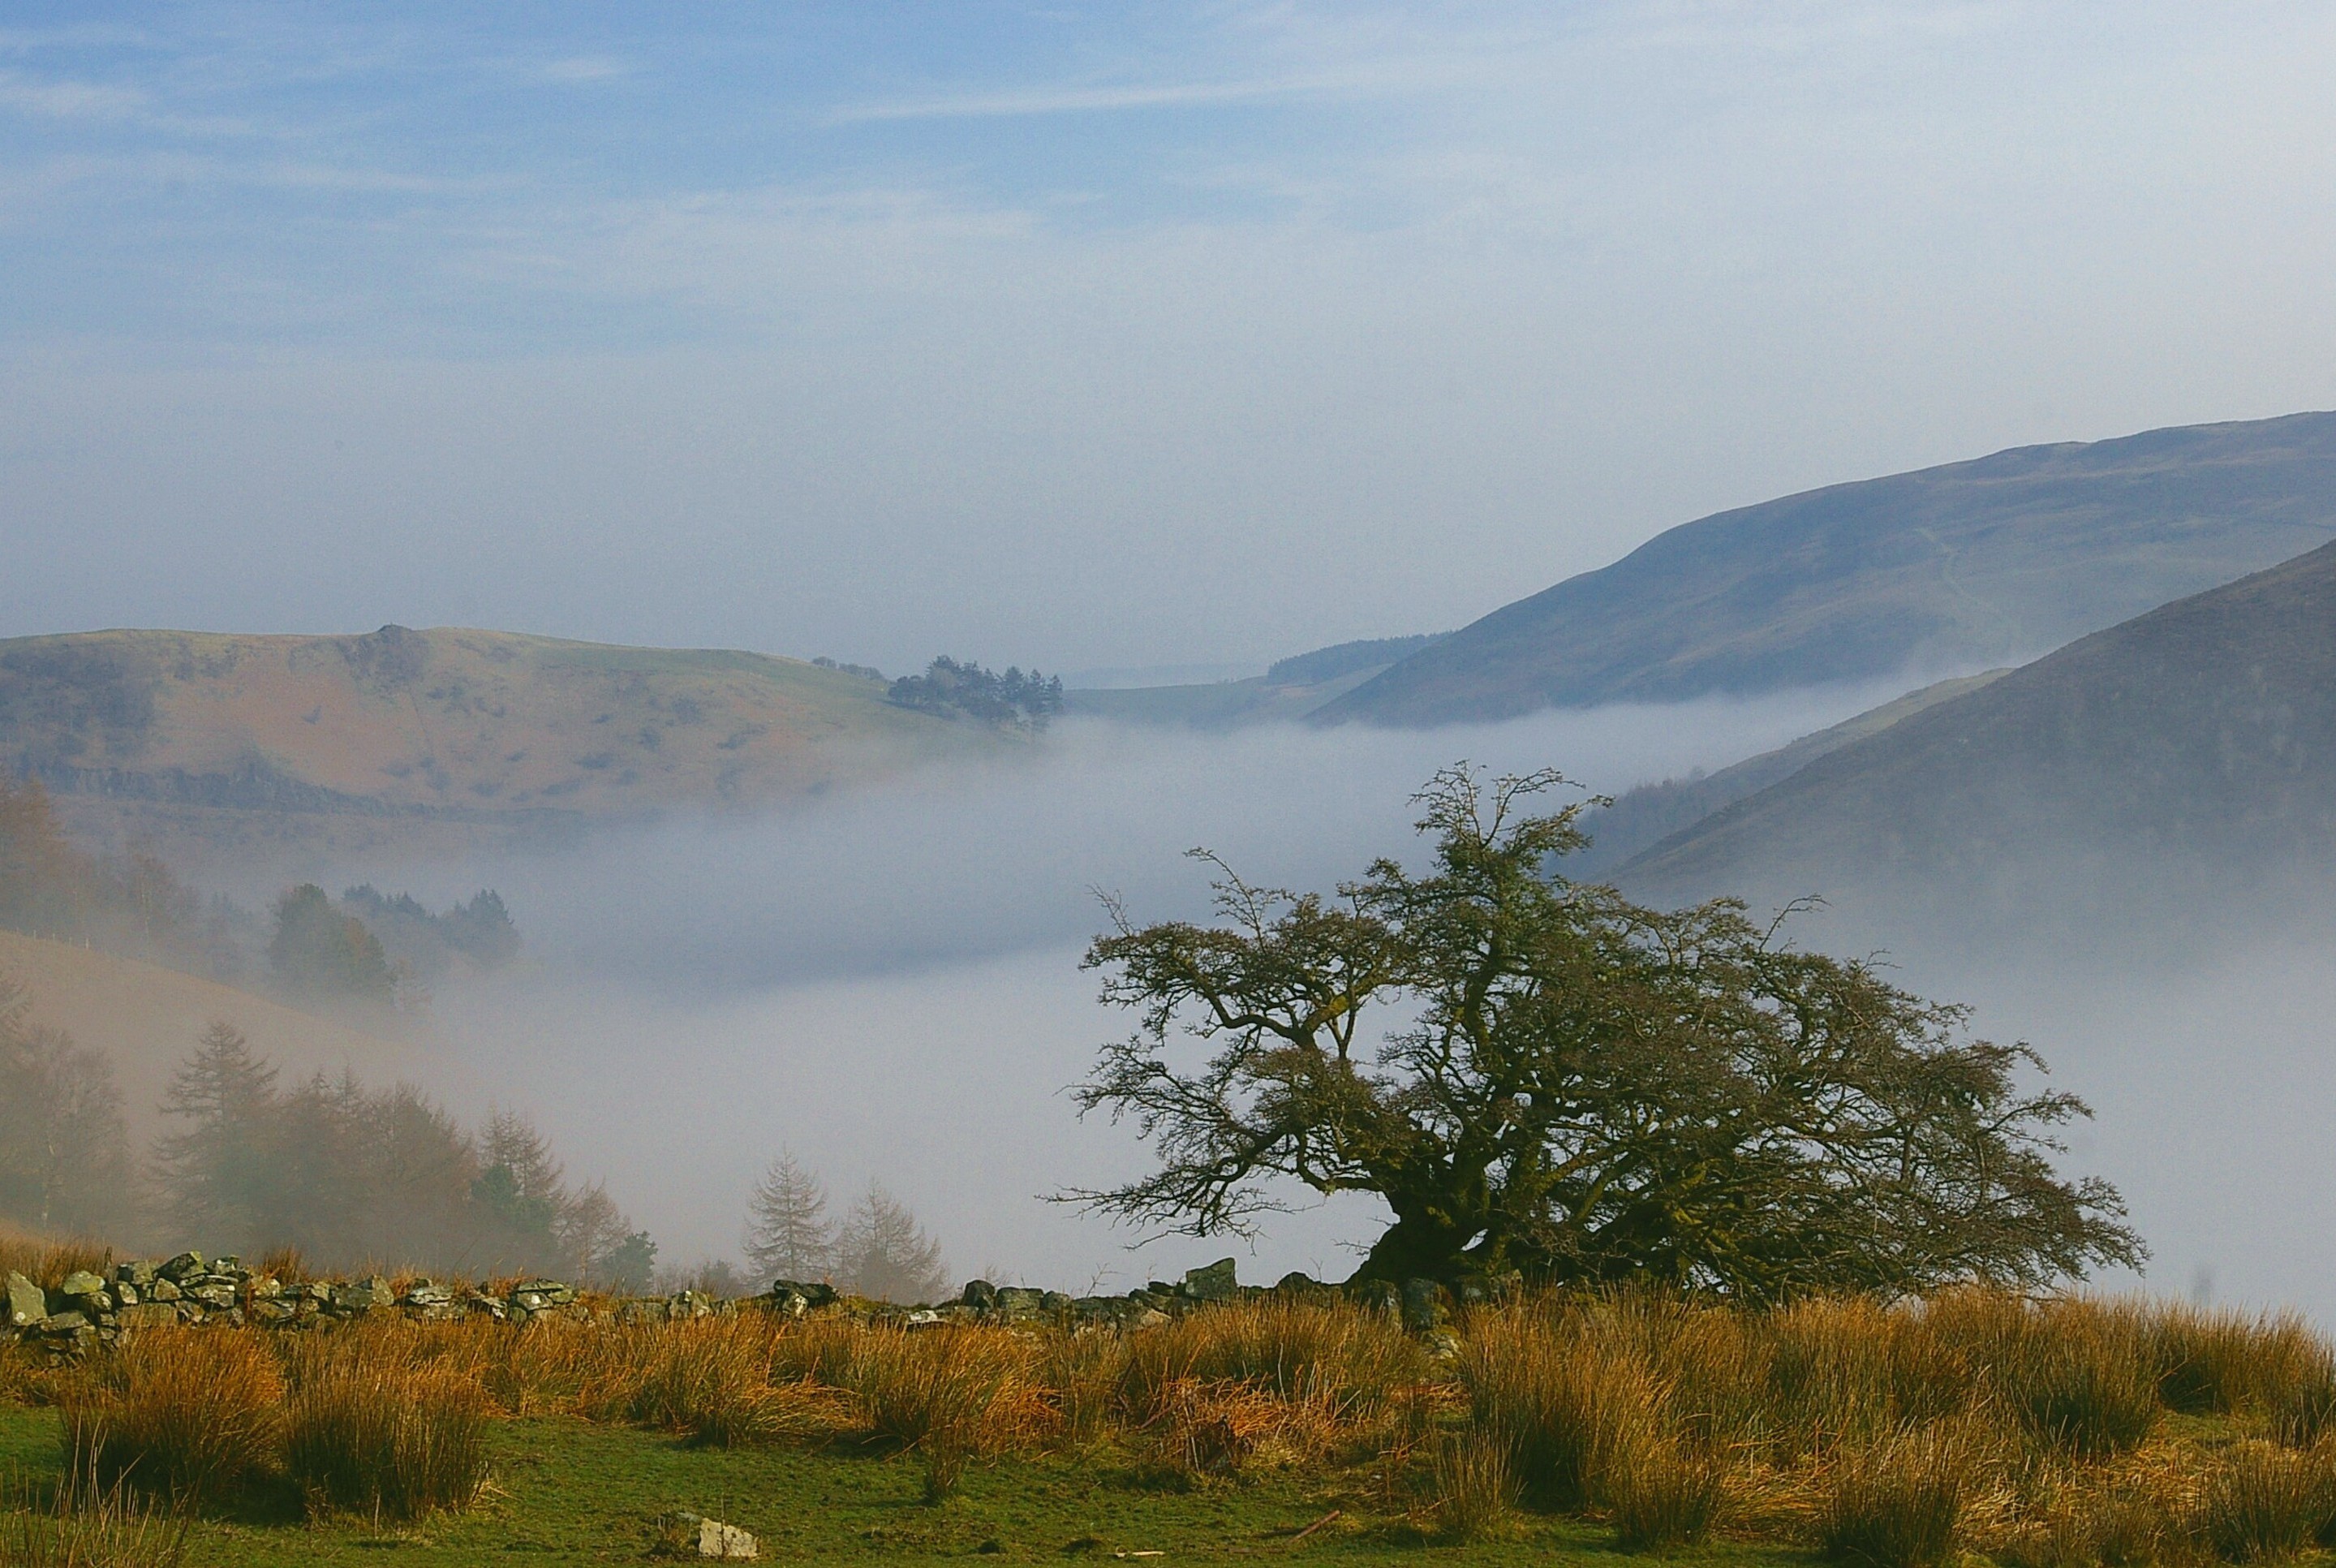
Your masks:
M110 1271L19 1260L44 1290ZM493 1421L561 1414L911 1463L932 1503L967 1465L1049 1456L1168 1489L1303 1468L1348 1489L1341 1531L1411 1540L1500 1538L1539 1512L1602 1521L1633 1552L1736 1538L1873 1568L1962 1549L2119 1568L2336 1538L2331 1346L2296 1318L2168 1302L1406 1304L1236 1288L1219 1267L1110 1316L979 1283L923 1311L780 1285L495 1313L411 1281L362 1283L343 1309L350 1285L266 1278L262 1299L325 1306L290 1332L222 1309L75 1353L21 1337L0 1390L61 1407L89 1496L147 1507L292 1482L318 1512L460 1510Z

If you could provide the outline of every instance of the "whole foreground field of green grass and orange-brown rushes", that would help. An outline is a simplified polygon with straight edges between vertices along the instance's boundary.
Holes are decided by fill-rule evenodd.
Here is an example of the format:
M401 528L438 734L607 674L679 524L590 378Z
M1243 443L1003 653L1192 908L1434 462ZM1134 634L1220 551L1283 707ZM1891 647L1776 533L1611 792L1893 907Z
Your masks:
M640 1559L682 1510L764 1561L2137 1568L2336 1542L2336 1351L2287 1318L1983 1290L1542 1295L1425 1332L1322 1288L1147 1327L776 1302L154 1325L79 1358L28 1334L0 1353L0 1568ZM110 1507L145 1540L61 1549L135 1535Z

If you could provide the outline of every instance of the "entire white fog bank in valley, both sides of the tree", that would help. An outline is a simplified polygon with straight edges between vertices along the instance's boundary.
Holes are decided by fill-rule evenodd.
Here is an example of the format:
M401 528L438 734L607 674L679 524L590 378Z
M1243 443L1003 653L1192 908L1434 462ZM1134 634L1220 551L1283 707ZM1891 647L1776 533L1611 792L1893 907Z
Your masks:
M1236 734L1065 724L1026 757L927 771L759 820L673 820L563 855L397 874L449 895L500 886L530 942L523 977L437 1000L460 1056L449 1094L523 1105L605 1178L663 1262L736 1255L748 1187L780 1145L848 1203L881 1178L962 1278L997 1271L1124 1290L1224 1253L1245 1278L1343 1276L1376 1234L1369 1199L1266 1222L1250 1243L1166 1239L1047 1203L1138 1168L1133 1133L1079 1122L1063 1089L1128 1019L1077 967L1096 890L1138 921L1198 918L1205 844L1245 876L1327 888L1411 855L1406 797L1430 771L1560 766L1595 790L1722 766L1897 689L1759 703L1610 708L1441 731ZM355 879L388 867L348 867ZM1815 890L1815 888L1813 888ZM2093 1101L2072 1166L2126 1192L2149 1285L2289 1302L2336 1318L2336 1199L2299 1192L2336 1115L2329 979L2308 937L2189 963L2051 930L1986 953L1887 904L1794 928L1829 951L1887 949L1902 979L1976 1005ZM2112 1281L2114 1283L2114 1281ZM2130 1281L2126 1281L2130 1283Z

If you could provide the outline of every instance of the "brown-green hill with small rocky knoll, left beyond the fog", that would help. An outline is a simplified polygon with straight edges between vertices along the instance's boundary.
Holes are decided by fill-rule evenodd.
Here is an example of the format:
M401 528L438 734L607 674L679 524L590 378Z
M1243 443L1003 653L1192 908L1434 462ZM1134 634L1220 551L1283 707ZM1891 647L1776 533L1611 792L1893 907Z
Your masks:
M252 816L544 830L815 795L967 743L864 673L748 652L404 626L0 643L0 766L40 773L79 827L164 837Z

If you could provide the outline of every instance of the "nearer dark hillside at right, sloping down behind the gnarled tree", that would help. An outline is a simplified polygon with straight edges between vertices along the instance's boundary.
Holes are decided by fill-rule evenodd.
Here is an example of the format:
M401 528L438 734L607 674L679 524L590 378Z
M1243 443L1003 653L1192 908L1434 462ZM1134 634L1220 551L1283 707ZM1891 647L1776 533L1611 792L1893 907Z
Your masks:
M2336 827L2336 544L1841 745L1619 872L1638 895L2060 902L2317 867ZM2310 853L2306 853L2310 848Z

